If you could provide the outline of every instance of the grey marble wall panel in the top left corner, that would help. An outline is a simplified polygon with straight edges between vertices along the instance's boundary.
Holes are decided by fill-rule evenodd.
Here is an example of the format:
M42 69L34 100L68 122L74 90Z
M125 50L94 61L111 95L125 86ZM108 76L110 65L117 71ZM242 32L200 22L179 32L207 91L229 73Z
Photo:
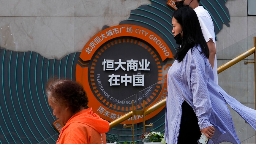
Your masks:
M0 16L73 16L74 0L0 0Z

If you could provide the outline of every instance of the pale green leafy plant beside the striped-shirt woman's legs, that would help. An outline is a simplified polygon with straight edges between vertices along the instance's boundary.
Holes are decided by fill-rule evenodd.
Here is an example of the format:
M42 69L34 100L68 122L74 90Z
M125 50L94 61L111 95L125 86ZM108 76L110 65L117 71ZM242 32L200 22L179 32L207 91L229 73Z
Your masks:
M147 132L141 135L141 140L146 143L150 142L161 142L165 144L165 135L161 132Z

